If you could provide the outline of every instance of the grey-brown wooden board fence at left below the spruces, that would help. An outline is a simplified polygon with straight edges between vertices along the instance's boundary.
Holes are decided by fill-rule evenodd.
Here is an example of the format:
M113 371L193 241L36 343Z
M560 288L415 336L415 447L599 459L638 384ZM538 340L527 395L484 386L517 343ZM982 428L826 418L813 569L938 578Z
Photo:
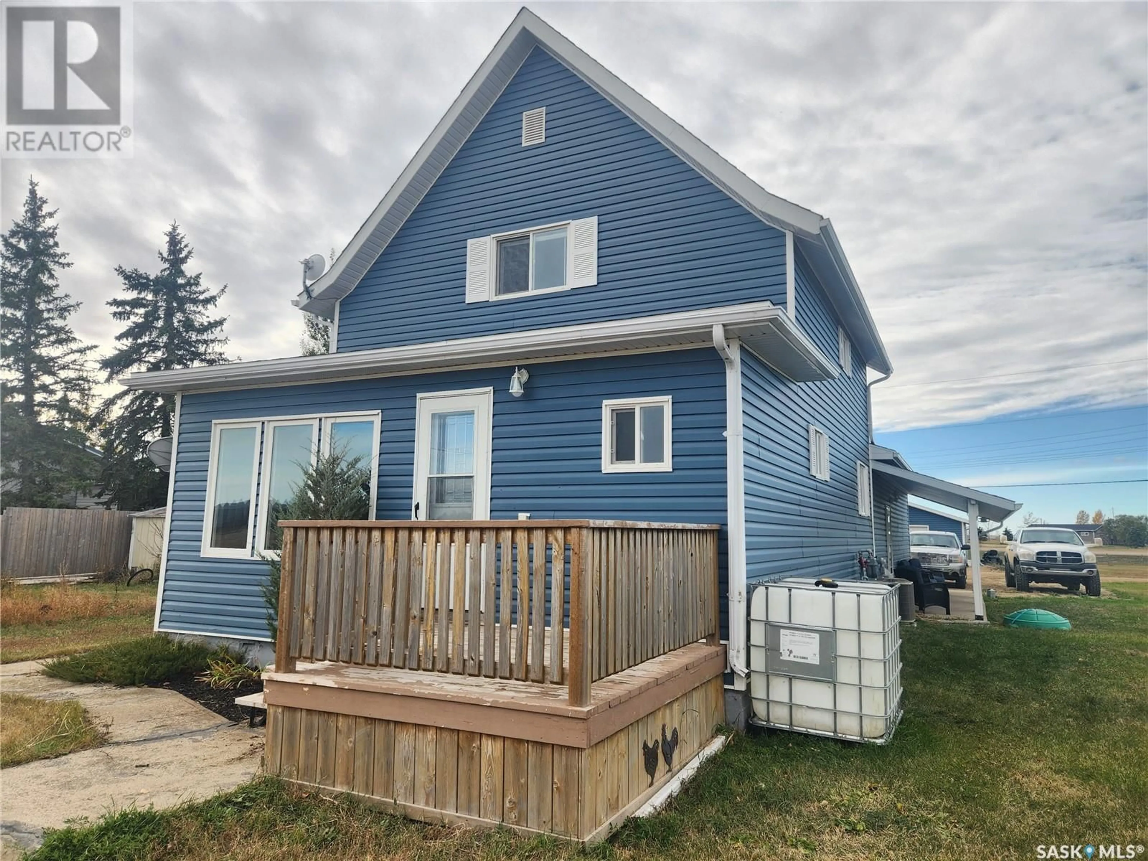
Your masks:
M127 564L126 511L17 509L0 518L0 573L48 577L114 571Z

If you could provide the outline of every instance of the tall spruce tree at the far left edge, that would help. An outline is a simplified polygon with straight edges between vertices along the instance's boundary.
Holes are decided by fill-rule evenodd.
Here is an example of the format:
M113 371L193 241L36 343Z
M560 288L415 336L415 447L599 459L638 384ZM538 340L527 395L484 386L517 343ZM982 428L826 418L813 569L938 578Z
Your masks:
M60 248L57 210L28 181L23 216L0 239L0 430L3 505L60 507L91 486L86 449L90 354L68 318L79 302L60 290L71 263Z

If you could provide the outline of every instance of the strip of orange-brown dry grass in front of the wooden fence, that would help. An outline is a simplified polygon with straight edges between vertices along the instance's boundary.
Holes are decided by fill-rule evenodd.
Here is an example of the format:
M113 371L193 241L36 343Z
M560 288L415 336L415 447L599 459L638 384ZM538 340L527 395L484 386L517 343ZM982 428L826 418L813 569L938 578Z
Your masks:
M0 625L37 625L73 619L140 615L155 610L155 588L117 584L51 583L0 585Z

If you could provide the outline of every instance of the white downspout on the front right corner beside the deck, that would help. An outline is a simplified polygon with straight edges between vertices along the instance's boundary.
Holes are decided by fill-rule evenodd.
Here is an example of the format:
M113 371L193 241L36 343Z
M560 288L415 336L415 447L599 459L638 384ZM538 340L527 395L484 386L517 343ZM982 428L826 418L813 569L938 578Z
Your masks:
M734 690L748 687L745 602L745 443L742 434L742 344L726 341L726 327L715 323L714 349L726 365L726 515L729 532L729 647L726 659Z

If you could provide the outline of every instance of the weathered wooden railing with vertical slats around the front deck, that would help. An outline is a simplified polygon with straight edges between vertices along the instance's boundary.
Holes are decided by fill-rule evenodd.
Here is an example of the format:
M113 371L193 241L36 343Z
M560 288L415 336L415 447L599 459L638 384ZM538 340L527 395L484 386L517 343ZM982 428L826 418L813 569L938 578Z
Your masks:
M718 527L305 521L284 530L276 668L302 660L590 685L718 641Z

